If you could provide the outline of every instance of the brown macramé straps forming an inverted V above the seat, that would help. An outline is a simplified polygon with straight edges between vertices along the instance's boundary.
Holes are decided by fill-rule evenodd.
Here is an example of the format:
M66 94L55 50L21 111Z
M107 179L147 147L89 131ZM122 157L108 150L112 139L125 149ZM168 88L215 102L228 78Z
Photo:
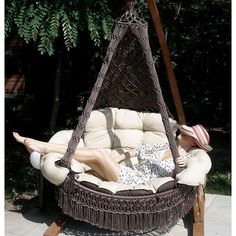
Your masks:
M148 64L150 77L153 81L153 87L156 92L156 98L158 101L158 106L160 110L160 114L162 116L162 121L166 130L166 135L170 144L170 149L174 158L175 162L175 174L178 174L180 171L182 171L182 168L179 168L176 164L176 159L179 157L179 153L177 150L177 145L175 138L173 136L173 132L170 127L169 123L169 116L166 109L166 105L163 99L161 87L159 84L157 72L155 69L155 63L152 57L151 48L149 45L148 40L148 25L147 22L143 19L140 19L136 12L133 12L133 10L129 10L126 12L120 20L116 22L115 28L113 30L113 34L111 37L110 44L108 46L107 54L105 56L103 65L101 67L101 70L98 74L97 81L93 87L93 90L91 92L91 95L86 103L84 112L82 113L82 116L80 118L80 121L74 130L72 137L69 141L67 151L64 155L64 157L57 161L57 165L64 166L68 169L70 169L71 160L74 155L75 149L80 141L80 138L84 132L85 125L87 123L87 120L90 116L91 111L93 110L93 107L96 103L96 99L98 97L98 94L101 90L104 78L106 76L107 70L109 68L110 62L112 60L112 57L114 55L114 52L120 43L123 36L126 34L127 30L131 30L132 33L137 37L137 39L140 42L140 47L143 48L146 63Z

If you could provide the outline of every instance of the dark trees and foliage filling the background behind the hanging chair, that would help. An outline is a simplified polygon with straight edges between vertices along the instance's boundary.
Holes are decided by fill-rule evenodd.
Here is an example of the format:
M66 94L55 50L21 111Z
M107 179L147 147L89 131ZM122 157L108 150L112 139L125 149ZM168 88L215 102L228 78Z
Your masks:
M114 19L122 14L124 2L124 0L5 1L6 41L8 39L10 41L9 36L15 36L17 33L28 43L24 45L27 46L27 50L20 48L21 53L18 58L13 49L6 48L6 55L8 57L11 55L11 60L7 61L11 63L16 62L16 59L21 61L17 66L22 64L24 67L16 66L20 70L14 71L22 71L26 78L34 81L33 88L28 88L26 94L32 93L37 98L32 103L26 102L27 97L17 102L14 100L13 105L6 103L6 147L8 147L6 186L9 188L26 186L28 189L37 184L37 175L32 178L32 170L25 168L28 163L22 161L25 149L20 152L15 149L11 131L20 127L20 130L24 128L27 131L24 133L32 132L32 136L42 140L51 137L51 131L47 132L47 120L52 110L51 95L54 90L52 84L56 84L56 80L53 81L54 77L57 77L55 75L60 76L60 86L63 88L58 91L61 105L60 116L55 118L56 128L74 128L78 117L76 111L78 97L80 93L87 96L88 90L95 82ZM208 127L226 127L230 123L231 109L231 1L156 0L156 3L187 121L190 124L201 122ZM166 95L170 88L168 84L165 85L167 83L165 68L147 1L137 0L135 8L139 16L149 23L152 53ZM44 54L43 56L34 50L35 46L41 54ZM12 53L8 50L12 50ZM25 52L28 52L28 55ZM63 52L63 55L60 52ZM60 64L58 63L60 60L62 60L61 67L56 66ZM165 96L165 100L167 99L172 101L170 94ZM169 106L169 101L167 104ZM170 109L171 112L173 110ZM54 117L56 116L57 114ZM44 131L43 137L42 131ZM218 141L222 145L220 149L219 145L214 147L213 144L220 156L223 150L230 152L227 146L230 144L229 139L220 135ZM226 143L222 143L222 140ZM230 178L227 173L230 164L225 161L220 163L224 163L226 171L218 181L219 186L222 188L224 184L229 188ZM16 166L24 171L15 173ZM222 169L222 166L214 169L214 175L209 178L210 183L214 185L217 183L218 170Z

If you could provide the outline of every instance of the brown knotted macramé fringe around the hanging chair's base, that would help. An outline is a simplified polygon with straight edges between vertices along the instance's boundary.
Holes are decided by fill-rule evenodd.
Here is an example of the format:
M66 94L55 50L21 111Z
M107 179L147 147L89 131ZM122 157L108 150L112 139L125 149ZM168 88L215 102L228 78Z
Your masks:
M70 217L114 231L164 229L193 207L195 187L179 185L146 196L104 194L81 185L72 176L59 186L58 205Z

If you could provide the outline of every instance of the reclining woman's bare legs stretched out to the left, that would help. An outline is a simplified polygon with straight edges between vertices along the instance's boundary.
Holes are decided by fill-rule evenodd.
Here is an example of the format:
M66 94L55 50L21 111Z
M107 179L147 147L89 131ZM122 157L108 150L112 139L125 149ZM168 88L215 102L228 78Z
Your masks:
M42 142L36 139L20 136L18 133L13 133L13 136L17 142L24 144L30 153L32 151L37 151L42 155L50 152L65 154L67 150L67 145L64 144ZM105 180L117 180L119 165L110 157L106 150L79 148L75 150L73 158L90 166Z

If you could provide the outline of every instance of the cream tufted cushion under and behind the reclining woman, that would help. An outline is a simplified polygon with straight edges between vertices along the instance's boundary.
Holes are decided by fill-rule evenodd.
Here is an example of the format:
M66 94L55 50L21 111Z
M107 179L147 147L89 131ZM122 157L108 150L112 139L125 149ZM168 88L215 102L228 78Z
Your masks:
M170 124L173 133L175 133L178 128L177 122L170 119ZM72 130L63 130L53 135L49 142L67 145L71 135ZM104 108L91 112L78 148L106 148L111 152L112 158L116 158L117 155L130 148L148 143L161 144L167 141L160 114ZM191 153L193 158L188 161L187 168L178 174L177 181L192 186L204 184L206 174L211 168L211 160L208 154L201 149L193 149ZM62 155L58 153L49 153L41 158L43 176L55 185L60 185L69 173L67 168L55 165L55 161L60 158ZM137 158L133 157L122 164L132 167L137 163ZM102 181L87 173L89 170L87 165L74 159L72 159L71 168L78 172L78 181L93 183L113 193L127 189L145 189L156 192L161 185L173 180L171 177L155 178L145 184L131 187L117 182Z

